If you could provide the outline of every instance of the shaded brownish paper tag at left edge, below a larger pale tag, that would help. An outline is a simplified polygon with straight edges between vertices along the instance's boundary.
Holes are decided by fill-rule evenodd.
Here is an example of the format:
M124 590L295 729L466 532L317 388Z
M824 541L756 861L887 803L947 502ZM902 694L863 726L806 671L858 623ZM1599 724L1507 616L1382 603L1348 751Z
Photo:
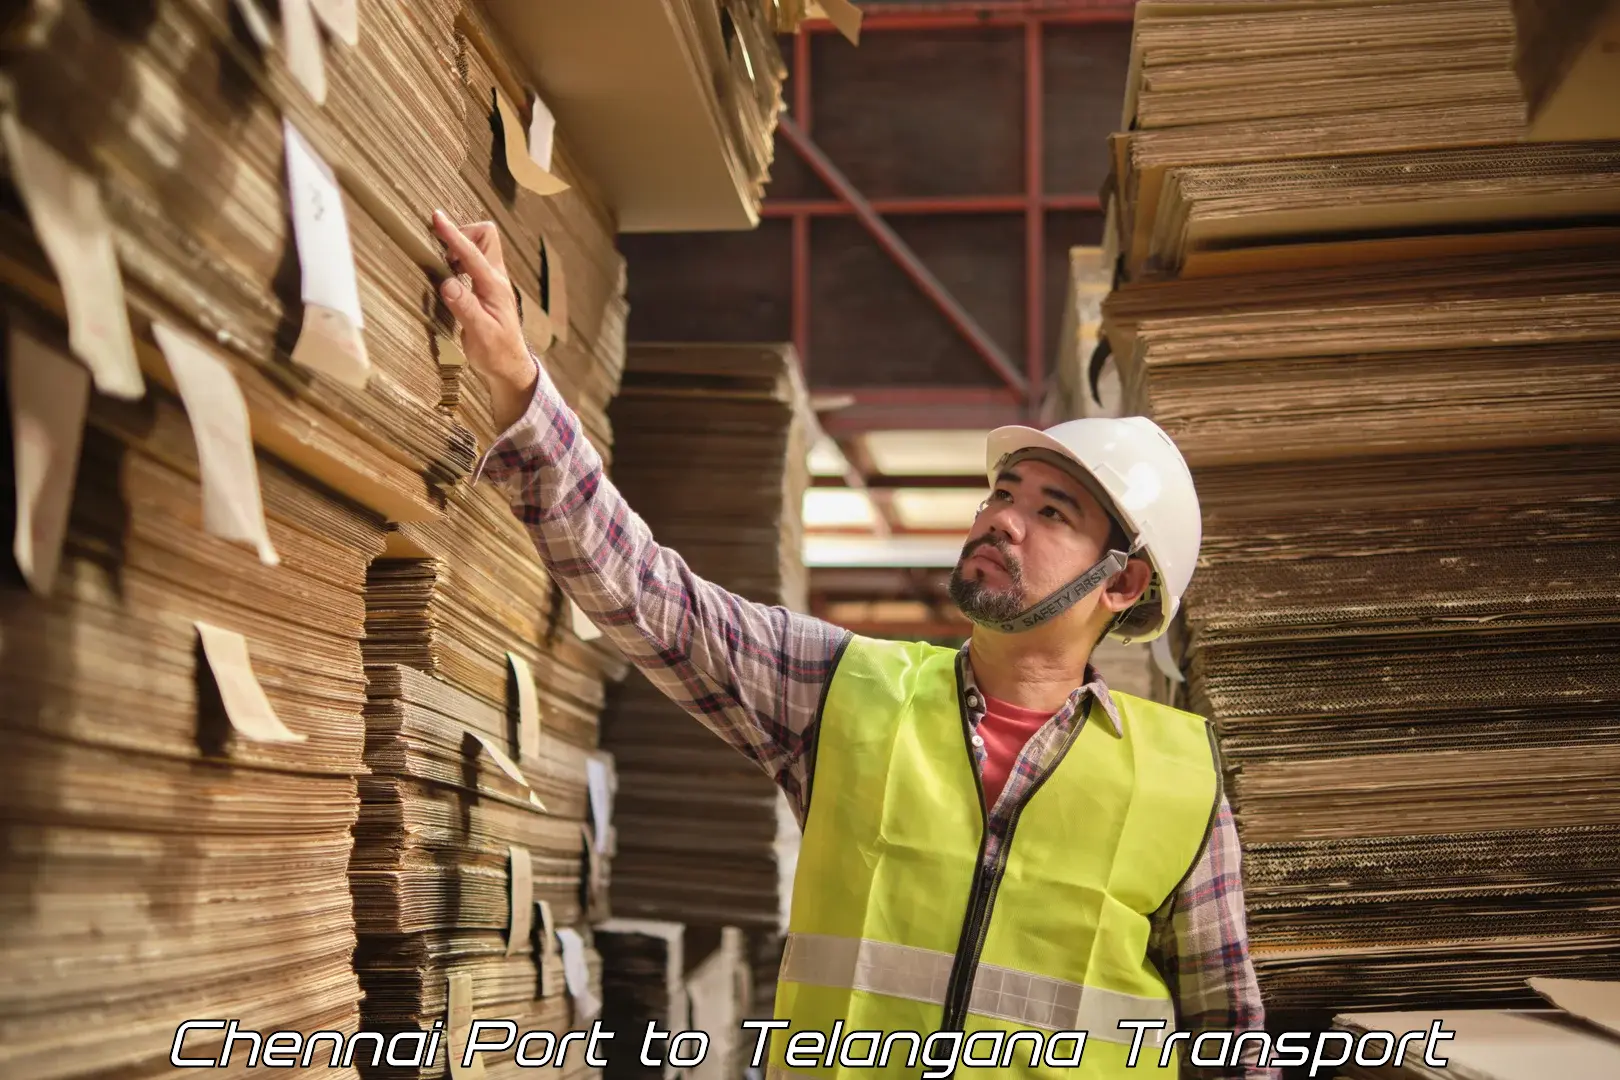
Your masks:
M6 348L16 536L11 555L28 588L50 596L73 512L91 372L11 321Z

